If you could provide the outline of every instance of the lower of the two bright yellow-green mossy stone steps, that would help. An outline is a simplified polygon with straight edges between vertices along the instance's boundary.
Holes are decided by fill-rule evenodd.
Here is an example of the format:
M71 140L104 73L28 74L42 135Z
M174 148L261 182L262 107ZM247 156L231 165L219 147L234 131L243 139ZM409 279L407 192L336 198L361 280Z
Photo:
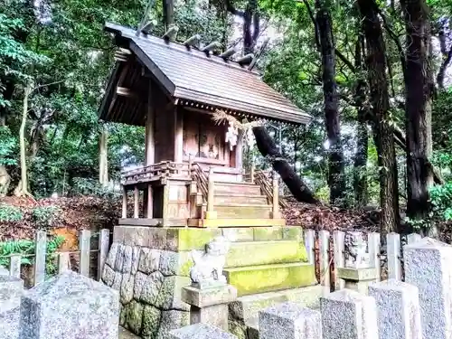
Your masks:
M306 263L224 268L223 272L239 297L316 284L314 265Z

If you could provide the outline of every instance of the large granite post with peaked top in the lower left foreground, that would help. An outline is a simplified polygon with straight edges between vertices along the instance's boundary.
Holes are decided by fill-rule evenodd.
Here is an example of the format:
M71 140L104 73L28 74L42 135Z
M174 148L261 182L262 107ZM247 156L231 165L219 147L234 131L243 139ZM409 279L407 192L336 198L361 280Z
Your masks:
M66 271L24 293L20 339L118 339L118 292Z

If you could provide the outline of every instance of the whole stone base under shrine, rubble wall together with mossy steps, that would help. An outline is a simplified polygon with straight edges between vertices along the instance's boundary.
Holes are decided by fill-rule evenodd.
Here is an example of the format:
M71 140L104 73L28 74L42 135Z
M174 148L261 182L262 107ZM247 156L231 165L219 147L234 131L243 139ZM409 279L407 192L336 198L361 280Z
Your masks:
M205 250L206 244L219 236L231 241L224 274L238 289L239 297L257 295L258 299L265 299L265 294L277 293L269 299L301 300L303 297L284 297L281 290L288 289L287 296L297 296L297 291L301 296L305 295L300 292L302 287L316 296L312 289L316 284L315 268L306 263L299 227L200 229L120 225L115 227L102 275L106 285L119 291L120 325L153 339L166 338L171 330L189 325L190 307L182 302L181 292L182 287L191 284L192 250ZM245 325L244 319L236 320L242 327ZM234 324L232 321L230 327Z

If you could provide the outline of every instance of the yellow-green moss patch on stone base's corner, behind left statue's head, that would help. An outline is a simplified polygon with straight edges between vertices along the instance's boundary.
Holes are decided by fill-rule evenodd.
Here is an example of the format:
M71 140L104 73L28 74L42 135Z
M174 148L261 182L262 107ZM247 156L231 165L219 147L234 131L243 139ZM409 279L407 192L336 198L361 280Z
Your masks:
M220 236L220 229L174 228L168 230L168 237L177 241L177 250L204 250L213 238Z

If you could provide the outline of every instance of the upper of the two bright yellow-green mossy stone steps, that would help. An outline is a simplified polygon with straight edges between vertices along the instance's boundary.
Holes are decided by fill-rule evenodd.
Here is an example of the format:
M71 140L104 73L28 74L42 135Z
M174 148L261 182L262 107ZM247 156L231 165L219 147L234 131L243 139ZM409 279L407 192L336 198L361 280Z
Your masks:
M306 262L305 247L297 240L233 242L225 268Z

